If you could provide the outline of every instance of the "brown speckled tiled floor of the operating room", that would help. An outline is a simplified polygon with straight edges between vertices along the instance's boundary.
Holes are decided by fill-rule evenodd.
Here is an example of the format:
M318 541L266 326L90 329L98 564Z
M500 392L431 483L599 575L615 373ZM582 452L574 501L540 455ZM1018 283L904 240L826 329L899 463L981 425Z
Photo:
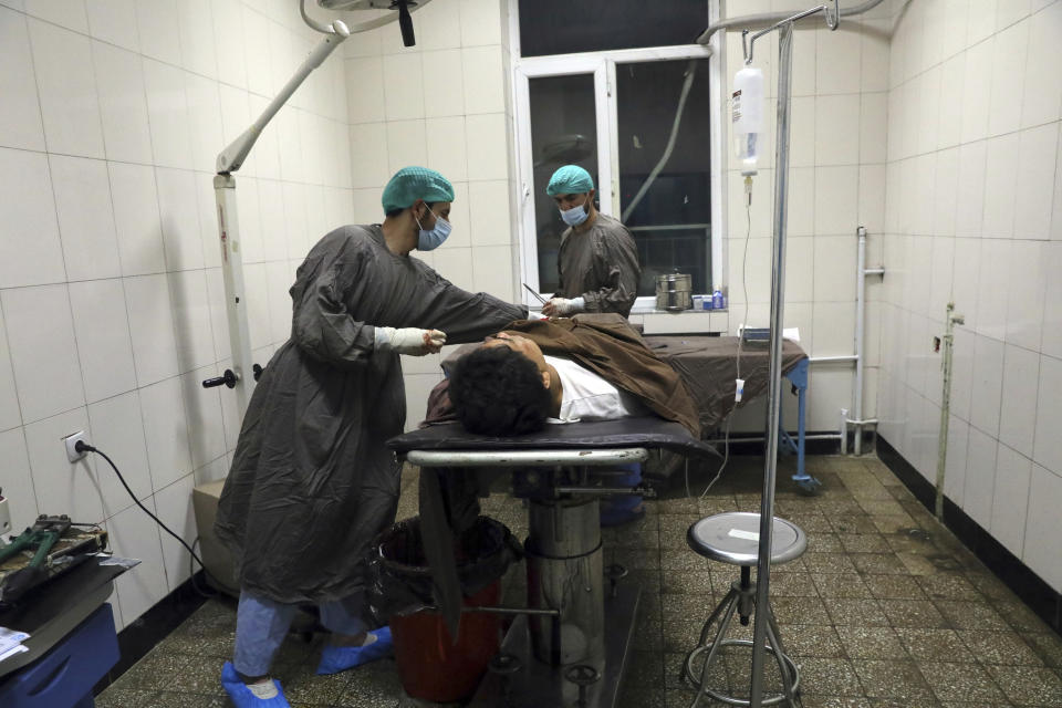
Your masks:
M688 706L678 680L700 623L737 577L686 546L686 529L721 511L759 511L760 458L735 458L702 498L681 479L649 513L605 530L605 562L623 563L641 583L636 652L622 705ZM771 573L782 641L800 666L804 708L1001 708L1062 706L1062 639L988 572L874 458L815 457L809 471L824 486L798 494L779 470L775 513L806 533L808 552ZM707 478L694 473L697 494ZM494 494L483 511L522 538L518 500ZM405 476L399 518L416 512L416 483ZM519 594L522 566L507 576ZM518 601L518 600L517 600ZM218 683L231 656L235 604L210 601L97 698L118 706L227 706ZM751 625L733 623L732 636ZM292 706L407 705L392 660L314 676L321 639L289 638L278 659ZM747 691L747 658L730 655L714 685ZM771 678L768 677L768 683ZM747 695L747 694L746 694ZM701 705L720 705L701 701Z

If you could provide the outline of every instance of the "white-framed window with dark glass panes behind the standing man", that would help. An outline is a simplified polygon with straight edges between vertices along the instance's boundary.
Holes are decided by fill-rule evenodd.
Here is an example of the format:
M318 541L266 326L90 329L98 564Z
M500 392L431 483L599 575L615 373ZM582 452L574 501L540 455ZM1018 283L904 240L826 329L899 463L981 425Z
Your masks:
M539 17L538 7L551 3L532 4L537 8L532 23L564 17L554 12ZM608 3L616 12L621 6L626 7ZM696 25L689 19L693 12L684 20L696 27L694 34L707 24L702 0L676 0L674 6L699 8ZM529 0L520 7L523 13ZM679 10L676 13L681 14ZM582 22L571 14L568 19ZM525 41L523 24L520 34ZM559 38L550 40L551 51L564 46L554 41ZM541 42L534 46L540 51ZM594 44L592 40L575 44L582 46ZM524 48L524 56L514 58L522 275L532 289L548 295L558 288L556 256L565 227L545 186L565 164L590 171L598 208L622 219L634 235L642 263L637 308L652 308L656 278L663 273L689 273L698 293L722 284L722 244L712 238L712 225L719 223L722 212L722 180L717 177L720 98L712 49L683 44L528 56Z

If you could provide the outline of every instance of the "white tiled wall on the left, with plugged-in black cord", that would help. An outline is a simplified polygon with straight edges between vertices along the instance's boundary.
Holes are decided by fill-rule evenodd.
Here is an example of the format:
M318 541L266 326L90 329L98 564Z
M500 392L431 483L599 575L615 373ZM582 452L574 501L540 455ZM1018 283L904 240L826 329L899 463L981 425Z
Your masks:
M175 527L192 471L223 477L232 394L199 386L230 365L214 162L310 33L293 7L257 0L0 4L3 486L20 498L20 524L38 510L107 521L118 553L145 561L119 580L129 623L187 564L108 467L69 465L60 438L85 430ZM244 258L277 273L254 299L278 321L293 261L352 220L346 71L334 58L315 73L237 175ZM266 323L256 344L268 355L287 332Z

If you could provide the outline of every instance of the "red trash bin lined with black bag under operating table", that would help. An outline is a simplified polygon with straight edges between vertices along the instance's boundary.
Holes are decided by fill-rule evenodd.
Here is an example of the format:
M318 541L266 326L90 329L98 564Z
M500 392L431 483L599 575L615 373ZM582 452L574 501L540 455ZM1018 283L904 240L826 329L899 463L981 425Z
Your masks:
M501 615L464 613L457 643L437 606L420 535L420 519L395 523L376 539L371 602L391 624L398 677L414 698L458 701L472 695L498 653ZM497 605L501 577L520 545L504 524L479 517L455 540L458 577L466 606Z

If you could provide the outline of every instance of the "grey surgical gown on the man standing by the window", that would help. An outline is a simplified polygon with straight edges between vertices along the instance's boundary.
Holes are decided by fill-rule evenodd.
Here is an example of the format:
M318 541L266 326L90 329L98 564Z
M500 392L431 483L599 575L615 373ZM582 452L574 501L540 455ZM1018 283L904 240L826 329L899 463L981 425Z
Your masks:
M569 229L558 253L559 298L584 298L586 312L631 314L638 296L638 249L627 227L597 212L583 233Z

